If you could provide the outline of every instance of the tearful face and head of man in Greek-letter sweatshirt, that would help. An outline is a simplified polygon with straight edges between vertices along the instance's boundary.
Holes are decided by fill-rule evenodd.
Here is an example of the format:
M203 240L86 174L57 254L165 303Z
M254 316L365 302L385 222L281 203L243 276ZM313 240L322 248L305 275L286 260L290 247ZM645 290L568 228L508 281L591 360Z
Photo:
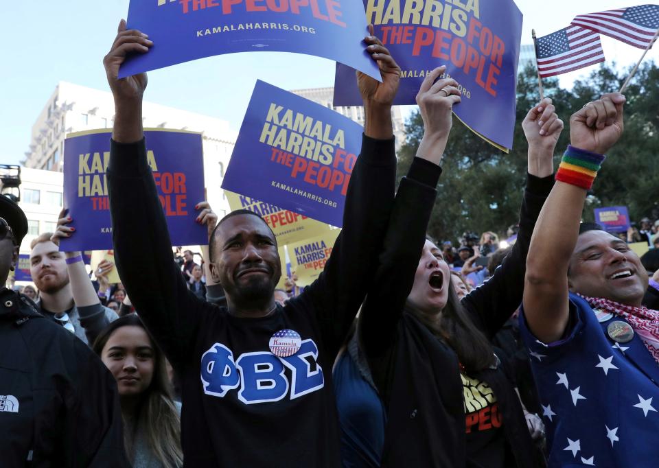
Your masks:
M275 235L254 215L224 220L213 236L210 270L230 305L262 307L273 300L281 277Z

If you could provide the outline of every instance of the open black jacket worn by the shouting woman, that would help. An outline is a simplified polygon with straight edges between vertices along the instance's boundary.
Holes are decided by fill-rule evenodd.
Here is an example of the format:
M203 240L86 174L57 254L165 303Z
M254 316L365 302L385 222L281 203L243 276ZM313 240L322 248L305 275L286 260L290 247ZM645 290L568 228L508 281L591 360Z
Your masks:
M432 170L428 165L427 172ZM439 174L430 184L427 180L402 180L380 267L360 314L361 344L387 408L383 467L470 466L457 355L415 316L404 312L425 243L438 177ZM531 233L552 185L552 177L536 178L529 174L518 241L492 279L462 301L467 314L487 338L494 336L522 301ZM500 367L488 368L470 377L494 390L502 412L502 428L509 449L513 448L513 466L532 467L533 444L505 373Z

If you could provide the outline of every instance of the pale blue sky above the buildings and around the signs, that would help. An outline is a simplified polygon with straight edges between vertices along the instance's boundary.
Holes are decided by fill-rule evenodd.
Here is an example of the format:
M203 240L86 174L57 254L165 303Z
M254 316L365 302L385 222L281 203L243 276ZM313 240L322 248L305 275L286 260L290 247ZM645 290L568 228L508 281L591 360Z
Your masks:
M487 0L481 0L487 1ZM544 36L566 27L576 14L642 4L629 0L517 0L524 14L522 44L531 28ZM15 164L30 144L30 129L58 81L108 89L102 57L115 36L128 0L12 1L3 5L0 57L0 163ZM632 65L643 53L607 37L609 62ZM659 58L659 47L648 58ZM564 86L579 78L562 75ZM146 99L227 119L240 128L257 78L284 89L333 86L334 62L322 58L258 52L218 56L149 73Z

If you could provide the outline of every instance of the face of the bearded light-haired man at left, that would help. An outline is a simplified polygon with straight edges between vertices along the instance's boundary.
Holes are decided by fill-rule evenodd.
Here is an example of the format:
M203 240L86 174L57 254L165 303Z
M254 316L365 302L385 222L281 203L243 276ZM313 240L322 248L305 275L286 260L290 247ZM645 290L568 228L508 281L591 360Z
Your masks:
M46 294L55 294L69 284L64 253L50 241L39 242L32 249L30 274L36 288Z

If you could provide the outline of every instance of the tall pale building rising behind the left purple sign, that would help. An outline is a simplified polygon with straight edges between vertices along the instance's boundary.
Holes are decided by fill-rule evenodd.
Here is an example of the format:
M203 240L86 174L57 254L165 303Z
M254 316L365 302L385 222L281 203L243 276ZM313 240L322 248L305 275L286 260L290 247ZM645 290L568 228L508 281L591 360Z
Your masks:
M59 82L32 126L30 150L25 153L25 161L21 163L30 169L62 172L66 135L84 130L112 128L114 114L114 100L108 91ZM229 204L220 185L238 136L229 128L229 122L144 102L143 126L202 133L208 200L220 216L227 213Z

